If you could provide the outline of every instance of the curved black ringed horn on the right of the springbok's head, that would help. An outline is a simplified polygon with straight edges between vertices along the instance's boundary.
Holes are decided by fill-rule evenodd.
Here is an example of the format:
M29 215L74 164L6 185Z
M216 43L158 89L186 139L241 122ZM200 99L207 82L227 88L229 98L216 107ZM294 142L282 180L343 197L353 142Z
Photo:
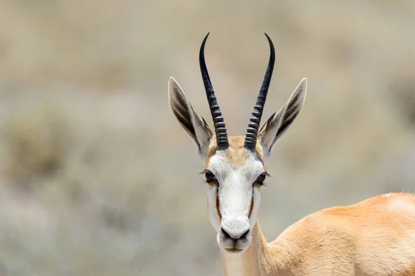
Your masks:
M266 95L268 94L268 88L270 87L270 81L271 77L273 76L275 63L275 49L273 41L271 41L270 37L268 37L268 34L265 35L268 39L268 43L270 43L270 60L268 61L264 81L262 81L262 86L259 90L257 102L255 103L254 111L252 111L252 117L250 117L248 129L246 130L245 142L243 143L243 147L252 152L255 151L255 146L257 145L259 123L261 122L262 111L264 110Z

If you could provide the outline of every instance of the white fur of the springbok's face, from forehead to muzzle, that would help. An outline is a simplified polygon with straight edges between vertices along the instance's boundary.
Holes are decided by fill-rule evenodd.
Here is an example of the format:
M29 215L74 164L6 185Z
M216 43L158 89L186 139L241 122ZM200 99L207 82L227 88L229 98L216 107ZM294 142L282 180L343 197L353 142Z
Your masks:
M245 150L245 149L239 149ZM232 164L225 151L217 151L208 164L219 186L208 188L209 218L218 232L217 241L223 249L241 252L250 245L250 228L257 221L261 191L253 186L264 167L255 154L248 152L240 164ZM216 208L219 198L219 217ZM251 211L253 197L252 213Z

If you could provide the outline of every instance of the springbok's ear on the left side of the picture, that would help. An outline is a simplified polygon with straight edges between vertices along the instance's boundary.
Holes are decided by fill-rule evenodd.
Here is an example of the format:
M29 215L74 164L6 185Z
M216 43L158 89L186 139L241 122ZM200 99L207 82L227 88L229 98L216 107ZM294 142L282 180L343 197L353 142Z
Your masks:
M213 132L205 119L194 110L185 92L173 77L169 79L169 105L179 124L196 143L201 159L205 161Z

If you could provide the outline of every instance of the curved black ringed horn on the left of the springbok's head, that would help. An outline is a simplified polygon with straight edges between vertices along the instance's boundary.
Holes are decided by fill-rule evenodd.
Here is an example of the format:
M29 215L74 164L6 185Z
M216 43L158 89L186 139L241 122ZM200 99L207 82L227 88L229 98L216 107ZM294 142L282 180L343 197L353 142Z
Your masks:
M217 150L225 150L229 148L228 133L226 132L225 122L223 121L218 101L216 101L216 96L214 95L212 83L210 82L208 68L206 68L205 63L205 43L208 39L208 36L209 33L206 35L205 39L203 39L201 50L199 52L199 63L201 65L203 84L205 85L206 97L208 97L210 113L212 114L212 119L214 122L214 130L216 132L216 144L218 147Z

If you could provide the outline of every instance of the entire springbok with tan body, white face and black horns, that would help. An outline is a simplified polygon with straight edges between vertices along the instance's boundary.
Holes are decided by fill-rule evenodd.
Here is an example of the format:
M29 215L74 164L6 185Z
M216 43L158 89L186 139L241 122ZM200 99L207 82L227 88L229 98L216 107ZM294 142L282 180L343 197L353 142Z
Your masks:
M209 35L209 34L208 34ZM217 231L225 275L415 275L415 195L389 193L350 206L326 208L289 226L267 243L257 221L266 161L275 142L291 126L306 98L302 79L285 105L259 127L275 50L250 118L245 137L228 137L205 65L201 75L214 121L213 133L170 77L169 105L192 137L205 164L208 210Z

